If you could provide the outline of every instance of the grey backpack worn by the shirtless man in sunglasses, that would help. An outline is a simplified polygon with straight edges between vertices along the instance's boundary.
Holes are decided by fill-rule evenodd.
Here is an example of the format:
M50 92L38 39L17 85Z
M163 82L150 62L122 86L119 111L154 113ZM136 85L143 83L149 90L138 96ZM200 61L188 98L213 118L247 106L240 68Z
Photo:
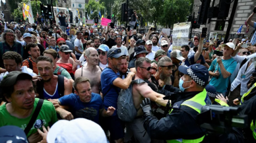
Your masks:
M137 109L133 103L133 84L141 84L142 79L133 80L126 90L121 90L117 99L117 116L121 121L131 122L137 115Z

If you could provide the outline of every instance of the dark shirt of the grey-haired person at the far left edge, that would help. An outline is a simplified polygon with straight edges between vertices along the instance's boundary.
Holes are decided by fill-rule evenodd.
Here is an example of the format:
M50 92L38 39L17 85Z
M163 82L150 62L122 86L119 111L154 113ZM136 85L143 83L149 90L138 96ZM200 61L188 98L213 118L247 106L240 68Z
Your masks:
M0 42L0 67L3 67L3 60L2 60L2 56L5 52L7 51L16 51L17 53L19 53L21 56L23 56L24 50L22 48L21 43L18 42L14 42L13 46L11 47L7 42Z

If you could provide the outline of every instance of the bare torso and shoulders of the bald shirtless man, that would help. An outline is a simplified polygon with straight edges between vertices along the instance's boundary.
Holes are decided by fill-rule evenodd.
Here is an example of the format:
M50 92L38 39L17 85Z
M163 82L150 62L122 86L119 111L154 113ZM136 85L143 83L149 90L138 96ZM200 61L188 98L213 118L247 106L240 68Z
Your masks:
M95 94L100 94L100 75L102 74L102 70L99 66L96 66L96 69L88 69L88 67L82 67L77 69L75 72L75 78L84 76L90 80L90 86L92 88L92 92Z

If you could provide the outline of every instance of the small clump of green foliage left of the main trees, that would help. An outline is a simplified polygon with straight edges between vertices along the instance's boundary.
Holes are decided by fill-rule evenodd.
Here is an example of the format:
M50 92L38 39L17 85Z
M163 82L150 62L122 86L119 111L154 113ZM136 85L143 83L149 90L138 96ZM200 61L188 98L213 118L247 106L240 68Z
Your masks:
M90 16L90 18L94 18L96 16L99 16L99 11L101 14L104 14L104 3L100 3L99 1L95 1L95 0L89 0L89 3L85 4L84 7L88 13L88 16ZM92 10L92 14L91 11Z

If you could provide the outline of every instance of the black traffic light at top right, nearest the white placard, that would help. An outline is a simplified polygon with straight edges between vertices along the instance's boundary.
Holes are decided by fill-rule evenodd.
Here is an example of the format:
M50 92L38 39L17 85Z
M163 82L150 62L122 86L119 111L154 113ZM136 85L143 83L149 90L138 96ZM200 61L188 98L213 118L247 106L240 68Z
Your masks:
M206 24L207 23L207 16L208 16L208 9L210 7L210 0L201 0L202 5L199 8L199 24Z

